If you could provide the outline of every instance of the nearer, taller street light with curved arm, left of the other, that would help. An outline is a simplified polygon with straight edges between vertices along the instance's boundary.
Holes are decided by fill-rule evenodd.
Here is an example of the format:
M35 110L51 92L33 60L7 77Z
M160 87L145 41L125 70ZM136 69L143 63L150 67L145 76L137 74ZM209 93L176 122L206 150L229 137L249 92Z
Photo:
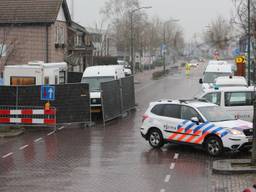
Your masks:
M133 14L141 9L151 9L151 6L145 6L145 7L139 7L136 9L133 9L130 11L130 19L131 19L131 32L130 32L130 60L131 60L131 64L132 64L132 72L133 74L135 74L135 62L134 62L134 45L133 45L133 41L134 41L134 35L133 35Z

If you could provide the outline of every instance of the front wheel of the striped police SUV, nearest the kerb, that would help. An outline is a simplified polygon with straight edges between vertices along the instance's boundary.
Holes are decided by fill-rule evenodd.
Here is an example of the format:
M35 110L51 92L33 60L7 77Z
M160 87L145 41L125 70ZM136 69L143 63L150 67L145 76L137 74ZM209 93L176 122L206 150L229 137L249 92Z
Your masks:
M206 151L211 156L218 156L223 150L223 145L218 137L209 137L205 142Z

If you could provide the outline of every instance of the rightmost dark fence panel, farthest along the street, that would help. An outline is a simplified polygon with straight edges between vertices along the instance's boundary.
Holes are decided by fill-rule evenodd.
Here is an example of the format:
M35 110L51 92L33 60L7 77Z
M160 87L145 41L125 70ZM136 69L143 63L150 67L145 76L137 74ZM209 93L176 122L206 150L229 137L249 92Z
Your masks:
M122 86L122 112L135 108L134 77L129 76L121 79Z

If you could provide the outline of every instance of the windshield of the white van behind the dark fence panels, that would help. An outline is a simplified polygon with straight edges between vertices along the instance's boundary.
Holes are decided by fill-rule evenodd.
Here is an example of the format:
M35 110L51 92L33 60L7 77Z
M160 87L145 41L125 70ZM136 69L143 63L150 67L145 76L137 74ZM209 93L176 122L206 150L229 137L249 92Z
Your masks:
M88 83L90 91L100 90L100 84L115 80L114 77L83 77L82 83Z

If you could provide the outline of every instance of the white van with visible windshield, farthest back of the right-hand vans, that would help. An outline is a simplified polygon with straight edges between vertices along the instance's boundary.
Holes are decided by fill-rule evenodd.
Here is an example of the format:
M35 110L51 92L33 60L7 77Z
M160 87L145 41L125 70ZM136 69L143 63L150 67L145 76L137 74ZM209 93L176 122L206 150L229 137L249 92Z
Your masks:
M202 84L202 89L206 90L211 87L215 79L223 76L232 76L233 70L232 65L223 64L223 65L208 65L204 72L203 79L199 80L199 83Z

